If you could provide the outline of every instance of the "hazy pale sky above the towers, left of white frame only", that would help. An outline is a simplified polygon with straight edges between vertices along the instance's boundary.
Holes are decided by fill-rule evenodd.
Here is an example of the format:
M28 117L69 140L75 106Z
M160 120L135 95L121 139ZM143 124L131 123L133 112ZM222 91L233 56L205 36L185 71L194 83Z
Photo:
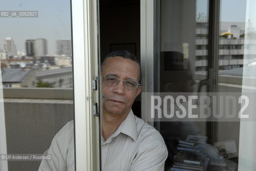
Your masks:
M56 40L71 40L70 0L0 0L0 11L38 11L38 18L0 18L0 49L12 37L17 50L27 39L46 38L48 52L55 53ZM53 55L53 54L52 54Z

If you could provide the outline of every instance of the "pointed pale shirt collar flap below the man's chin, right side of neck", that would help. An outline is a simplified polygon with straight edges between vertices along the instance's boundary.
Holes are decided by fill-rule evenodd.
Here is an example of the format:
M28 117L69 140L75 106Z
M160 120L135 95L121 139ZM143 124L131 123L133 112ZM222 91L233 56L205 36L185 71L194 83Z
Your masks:
M136 125L135 116L134 116L132 110L126 116L124 121L117 128L116 132L114 134L112 134L111 137L116 137L120 133L130 136L134 141L137 141L137 137L138 137L137 125Z

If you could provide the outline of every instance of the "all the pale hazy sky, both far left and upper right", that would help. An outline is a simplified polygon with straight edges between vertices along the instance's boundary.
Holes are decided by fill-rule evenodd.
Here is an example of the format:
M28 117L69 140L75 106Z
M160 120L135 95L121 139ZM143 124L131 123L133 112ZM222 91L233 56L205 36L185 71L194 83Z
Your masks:
M220 20L245 22L248 1L254 0L221 0ZM4 49L5 37L13 38L17 50L25 50L27 39L46 38L48 53L54 55L56 40L71 40L70 0L0 0L0 4L0 11L39 13L38 18L0 18L0 49ZM208 0L197 0L196 7L197 13L208 14Z

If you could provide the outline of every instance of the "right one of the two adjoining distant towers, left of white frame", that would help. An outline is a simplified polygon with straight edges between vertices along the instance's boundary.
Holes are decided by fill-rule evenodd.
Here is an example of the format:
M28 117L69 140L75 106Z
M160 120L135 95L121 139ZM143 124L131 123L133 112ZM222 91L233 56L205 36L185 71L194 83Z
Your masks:
M36 57L47 55L47 40L45 38L35 39L34 52Z

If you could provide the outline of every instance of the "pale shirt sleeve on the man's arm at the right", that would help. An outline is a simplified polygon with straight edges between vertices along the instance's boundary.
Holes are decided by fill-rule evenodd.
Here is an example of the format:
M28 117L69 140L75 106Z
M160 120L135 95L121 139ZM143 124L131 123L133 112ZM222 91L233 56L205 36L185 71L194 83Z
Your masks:
M164 162L168 152L161 134L155 131L153 135L147 136L140 144L129 171L164 170Z

